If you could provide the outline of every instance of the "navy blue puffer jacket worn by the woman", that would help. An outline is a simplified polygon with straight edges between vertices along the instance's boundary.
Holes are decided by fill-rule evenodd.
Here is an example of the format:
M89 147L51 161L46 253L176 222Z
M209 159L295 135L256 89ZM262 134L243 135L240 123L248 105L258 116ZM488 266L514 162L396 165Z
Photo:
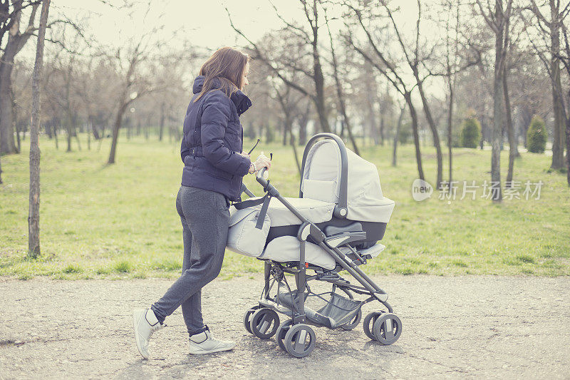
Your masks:
M239 155L243 149L243 129L239 115L252 102L242 91L229 98L220 90L205 93L197 102L204 76L198 76L184 119L180 155L184 163L182 185L221 192L229 200L239 200L242 178L250 160ZM214 82L214 86L219 87Z

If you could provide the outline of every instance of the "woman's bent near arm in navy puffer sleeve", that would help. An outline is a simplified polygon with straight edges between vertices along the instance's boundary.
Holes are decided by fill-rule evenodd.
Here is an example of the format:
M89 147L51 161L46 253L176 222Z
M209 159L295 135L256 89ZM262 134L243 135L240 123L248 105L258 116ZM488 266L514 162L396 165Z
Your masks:
M216 168L234 175L246 175L251 161L229 150L224 145L227 123L231 115L229 99L219 91L213 91L204 99L202 111L202 152Z

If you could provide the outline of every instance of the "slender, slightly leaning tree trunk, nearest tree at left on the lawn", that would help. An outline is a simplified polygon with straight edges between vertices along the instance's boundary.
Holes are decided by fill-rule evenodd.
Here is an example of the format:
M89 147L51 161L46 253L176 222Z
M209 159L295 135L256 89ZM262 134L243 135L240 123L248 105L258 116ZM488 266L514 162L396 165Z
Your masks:
M50 0L43 0L41 6L36 63L32 76L32 108L30 129L30 209L28 213L28 257L35 259L40 255L40 91L41 66L43 65L43 42L46 37L46 24Z

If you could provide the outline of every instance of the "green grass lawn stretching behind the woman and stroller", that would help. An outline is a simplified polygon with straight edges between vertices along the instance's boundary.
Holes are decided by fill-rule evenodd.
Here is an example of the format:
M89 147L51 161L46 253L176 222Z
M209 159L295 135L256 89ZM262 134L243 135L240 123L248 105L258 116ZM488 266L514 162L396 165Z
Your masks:
M86 136L81 136L85 139ZM30 278L177 277L182 263L182 227L175 211L182 163L178 143L119 141L115 165L106 166L110 145L66 153L40 141L41 257L26 260L28 140L19 155L1 158L0 276ZM62 144L63 145L63 144ZM253 143L246 141L244 146ZM255 153L274 153L271 181L286 196L298 195L299 175L291 147L260 143ZM546 155L522 153L514 179L542 180L539 200L482 198L439 200L437 190L413 200L417 178L412 145L398 150L390 166L390 146L365 146L362 155L380 171L383 193L396 206L386 230L386 250L366 265L368 273L400 274L570 274L570 191L565 174L550 173ZM427 180L435 181L435 150L423 146ZM302 149L299 149L302 154ZM508 152L502 154L502 177ZM454 178L490 180L490 151L456 149ZM447 167L447 157L444 157ZM444 175L446 178L447 175ZM247 177L248 188L261 188ZM259 272L259 260L227 251L222 278Z

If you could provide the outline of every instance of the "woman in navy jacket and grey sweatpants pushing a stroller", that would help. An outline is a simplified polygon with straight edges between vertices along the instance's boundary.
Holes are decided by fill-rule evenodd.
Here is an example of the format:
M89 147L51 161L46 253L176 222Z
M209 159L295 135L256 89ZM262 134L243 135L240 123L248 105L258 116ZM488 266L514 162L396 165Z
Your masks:
M239 200L242 178L270 168L260 155L252 163L243 149L239 115L252 102L242 92L249 83L249 56L234 48L220 48L202 65L184 120L181 155L182 186L176 208L182 220L184 260L182 276L150 309L133 312L135 339L148 358L148 341L164 327L178 307L190 334L190 354L233 349L235 342L212 338L202 322L201 289L219 274L229 228L229 201Z

